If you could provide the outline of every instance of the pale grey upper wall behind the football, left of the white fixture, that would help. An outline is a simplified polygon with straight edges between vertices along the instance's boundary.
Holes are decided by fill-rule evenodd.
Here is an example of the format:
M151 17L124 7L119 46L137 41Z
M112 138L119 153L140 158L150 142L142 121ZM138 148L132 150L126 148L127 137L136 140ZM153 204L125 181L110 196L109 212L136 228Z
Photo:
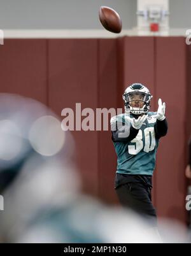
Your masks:
M124 29L136 26L136 0L0 0L0 29L102 29L101 5L120 13Z

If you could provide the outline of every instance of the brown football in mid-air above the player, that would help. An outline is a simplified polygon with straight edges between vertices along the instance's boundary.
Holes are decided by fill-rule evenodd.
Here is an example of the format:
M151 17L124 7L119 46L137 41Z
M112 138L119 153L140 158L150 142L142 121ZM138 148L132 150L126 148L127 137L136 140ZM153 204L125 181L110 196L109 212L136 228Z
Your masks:
M99 8L99 20L103 27L110 32L120 33L122 31L120 15L108 6L101 6Z

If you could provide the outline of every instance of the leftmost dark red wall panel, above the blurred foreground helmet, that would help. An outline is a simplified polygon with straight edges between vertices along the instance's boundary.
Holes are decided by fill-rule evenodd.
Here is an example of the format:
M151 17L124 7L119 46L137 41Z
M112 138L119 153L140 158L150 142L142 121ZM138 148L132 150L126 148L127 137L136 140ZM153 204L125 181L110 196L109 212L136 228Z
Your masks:
M0 91L47 103L46 40L5 39L0 45Z

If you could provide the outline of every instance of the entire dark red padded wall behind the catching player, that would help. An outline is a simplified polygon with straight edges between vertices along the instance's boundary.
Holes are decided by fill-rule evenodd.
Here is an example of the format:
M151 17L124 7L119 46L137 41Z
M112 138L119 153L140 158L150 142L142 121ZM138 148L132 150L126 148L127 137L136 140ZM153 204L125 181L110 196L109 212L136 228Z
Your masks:
M62 109L75 110L75 103L81 109L122 107L124 89L133 82L145 83L153 95L151 110L157 110L161 97L169 122L157 154L153 202L159 216L184 221L190 59L183 37L6 39L0 45L0 90L37 99L64 118ZM76 131L73 136L85 190L116 202L110 131Z

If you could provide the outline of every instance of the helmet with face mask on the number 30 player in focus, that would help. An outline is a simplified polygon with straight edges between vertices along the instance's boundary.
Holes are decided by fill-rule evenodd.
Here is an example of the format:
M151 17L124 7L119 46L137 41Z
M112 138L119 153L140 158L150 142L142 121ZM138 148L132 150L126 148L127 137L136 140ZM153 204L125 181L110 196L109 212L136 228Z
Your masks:
M135 101L135 95L139 96L139 99L136 99L136 101L142 101L144 103L142 108L131 106L131 102ZM127 87L122 97L125 101L125 111L127 113L131 112L134 115L141 115L142 113L147 113L150 110L150 101L153 96L145 85L142 85L141 83L132 83L132 85Z

